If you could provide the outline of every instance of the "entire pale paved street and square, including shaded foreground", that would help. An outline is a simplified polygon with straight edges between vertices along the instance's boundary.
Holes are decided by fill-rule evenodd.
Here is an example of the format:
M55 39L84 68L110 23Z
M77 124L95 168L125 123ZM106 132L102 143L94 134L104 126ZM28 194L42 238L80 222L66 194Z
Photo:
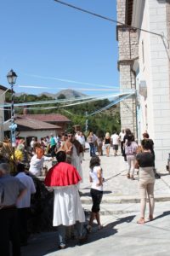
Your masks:
M112 151L111 151L112 154ZM81 184L82 205L91 209L88 182L89 154L82 162L83 183ZM126 163L122 156L101 157L105 177L105 194L101 204L103 230L96 224L88 241L82 246L70 241L65 250L58 250L55 232L32 235L27 247L22 247L23 256L55 255L169 255L170 251L170 175L161 170L161 179L156 179L155 220L136 224L139 218L139 190L135 180L126 177ZM148 216L148 209L146 217Z

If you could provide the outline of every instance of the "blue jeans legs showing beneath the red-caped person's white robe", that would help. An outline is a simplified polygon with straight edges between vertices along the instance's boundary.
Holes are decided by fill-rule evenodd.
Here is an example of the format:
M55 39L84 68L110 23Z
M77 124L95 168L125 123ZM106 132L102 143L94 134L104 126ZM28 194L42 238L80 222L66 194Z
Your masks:
M76 231L76 236L78 238L81 238L87 234L87 231L85 230L81 222L77 221L77 223L74 226L76 228L75 231ZM65 231L66 231L66 226L64 225L58 226L59 244L61 243L65 244Z

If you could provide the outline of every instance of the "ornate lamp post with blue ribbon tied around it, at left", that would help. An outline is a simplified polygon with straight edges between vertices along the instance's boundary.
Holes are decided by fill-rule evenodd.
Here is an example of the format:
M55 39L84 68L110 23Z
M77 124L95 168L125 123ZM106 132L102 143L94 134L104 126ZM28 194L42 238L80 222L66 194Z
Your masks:
M15 130L16 124L14 124L14 84L17 79L16 73L11 69L7 74L8 84L11 85L11 125L9 128L11 129L11 143L12 147L15 147Z

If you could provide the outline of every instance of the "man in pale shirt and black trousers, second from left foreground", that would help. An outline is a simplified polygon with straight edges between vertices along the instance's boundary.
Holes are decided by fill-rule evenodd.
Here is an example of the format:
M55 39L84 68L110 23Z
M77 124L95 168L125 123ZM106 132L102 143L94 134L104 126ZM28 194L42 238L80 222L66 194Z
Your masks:
M36 193L36 188L32 178L26 175L25 166L18 164L17 171L19 172L16 177L20 182L26 186L26 194L17 203L18 216L19 216L19 230L20 230L20 243L21 245L27 244L27 219L31 207L31 194Z

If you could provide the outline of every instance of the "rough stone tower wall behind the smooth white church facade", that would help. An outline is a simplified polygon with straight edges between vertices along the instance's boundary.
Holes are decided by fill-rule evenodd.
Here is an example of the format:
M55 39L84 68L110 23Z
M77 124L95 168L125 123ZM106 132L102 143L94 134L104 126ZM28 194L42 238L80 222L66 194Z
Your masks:
M126 0L117 0L117 20L125 23ZM120 88L122 90L135 89L135 75L133 60L138 57L137 32L127 26L117 26L117 40L119 45L118 68L120 71ZM120 104L122 128L129 128L136 135L136 99L135 96L124 100Z

